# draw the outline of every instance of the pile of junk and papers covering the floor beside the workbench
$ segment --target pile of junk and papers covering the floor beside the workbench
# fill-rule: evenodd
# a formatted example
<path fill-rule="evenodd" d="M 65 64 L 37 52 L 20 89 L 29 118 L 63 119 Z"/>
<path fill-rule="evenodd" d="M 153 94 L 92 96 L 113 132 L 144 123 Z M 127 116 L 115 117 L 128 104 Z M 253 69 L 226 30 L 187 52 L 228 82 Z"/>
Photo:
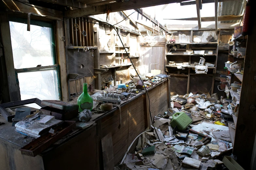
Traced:
<path fill-rule="evenodd" d="M 197 93 L 171 96 L 171 108 L 134 139 L 115 170 L 243 169 L 229 131 L 239 103 Z"/>

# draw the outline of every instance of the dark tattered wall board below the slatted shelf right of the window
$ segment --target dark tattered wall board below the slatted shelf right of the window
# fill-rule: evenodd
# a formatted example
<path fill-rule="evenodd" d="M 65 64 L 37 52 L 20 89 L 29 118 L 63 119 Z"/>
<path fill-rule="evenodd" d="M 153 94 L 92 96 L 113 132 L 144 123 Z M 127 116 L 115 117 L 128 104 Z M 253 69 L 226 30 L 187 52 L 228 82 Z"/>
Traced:
<path fill-rule="evenodd" d="M 84 52 L 82 49 L 68 49 L 68 68 L 69 73 L 78 74 L 77 78 L 84 76 L 94 76 L 94 57 L 92 50 Z M 82 67 L 82 68 L 81 68 Z"/>

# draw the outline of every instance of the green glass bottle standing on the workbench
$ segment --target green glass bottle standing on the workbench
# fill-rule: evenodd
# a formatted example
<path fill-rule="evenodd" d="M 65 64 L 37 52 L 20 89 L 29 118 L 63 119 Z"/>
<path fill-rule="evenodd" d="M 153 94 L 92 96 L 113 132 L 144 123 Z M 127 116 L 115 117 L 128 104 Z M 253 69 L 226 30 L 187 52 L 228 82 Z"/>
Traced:
<path fill-rule="evenodd" d="M 79 106 L 79 112 L 82 112 L 84 109 L 91 111 L 93 109 L 93 98 L 87 92 L 87 83 L 84 83 L 83 92 L 77 99 L 77 105 Z"/>

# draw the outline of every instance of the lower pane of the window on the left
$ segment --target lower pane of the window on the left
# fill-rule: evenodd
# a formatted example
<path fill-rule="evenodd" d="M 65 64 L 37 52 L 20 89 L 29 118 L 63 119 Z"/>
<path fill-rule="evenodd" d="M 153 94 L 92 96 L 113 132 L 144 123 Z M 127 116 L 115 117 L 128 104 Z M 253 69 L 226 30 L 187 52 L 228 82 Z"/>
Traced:
<path fill-rule="evenodd" d="M 59 100 L 56 68 L 18 73 L 21 100 Z"/>

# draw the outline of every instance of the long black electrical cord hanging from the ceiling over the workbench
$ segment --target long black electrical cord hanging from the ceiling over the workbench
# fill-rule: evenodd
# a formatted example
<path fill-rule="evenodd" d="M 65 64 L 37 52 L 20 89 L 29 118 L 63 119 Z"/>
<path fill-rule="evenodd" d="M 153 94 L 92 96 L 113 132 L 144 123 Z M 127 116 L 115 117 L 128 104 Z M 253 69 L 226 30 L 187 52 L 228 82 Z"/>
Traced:
<path fill-rule="evenodd" d="M 25 5 L 27 5 L 27 6 L 30 6 L 30 7 L 34 7 L 34 6 L 31 6 L 31 5 L 26 4 L 26 3 L 24 3 L 24 2 L 21 2 L 21 1 L 19 1 L 19 0 L 15 0 L 15 1 L 20 2 L 20 3 L 22 3 L 22 4 L 25 4 Z M 44 10 L 44 9 L 42 9 L 42 8 L 39 8 L 39 7 L 34 7 L 34 8 L 38 8 L 38 9 L 41 9 L 41 10 L 43 10 L 43 11 L 49 12 L 49 11 Z M 135 11 L 135 12 L 136 12 L 136 11 Z M 59 14 L 55 14 L 55 13 L 53 13 L 53 12 L 49 12 L 49 13 L 54 14 L 54 15 L 59 15 Z M 133 12 L 133 13 L 134 13 L 134 12 Z M 132 14 L 133 14 L 133 13 L 132 13 Z M 130 15 L 131 15 L 131 14 L 130 14 Z M 130 15 L 128 15 L 128 16 L 130 16 Z M 63 15 L 59 15 L 59 16 L 61 16 L 61 17 L 66 17 L 66 16 L 63 16 Z M 127 16 L 127 17 L 128 17 L 128 16 Z M 126 17 L 126 18 L 127 18 L 127 17 Z M 72 18 L 72 17 L 66 17 L 66 18 Z M 122 45 L 123 45 L 123 47 L 124 47 L 124 49 L 125 49 L 124 43 L 123 43 L 123 41 L 122 41 L 120 35 L 118 34 L 117 30 L 115 29 L 114 25 L 111 25 L 110 23 L 107 23 L 107 22 L 104 22 L 104 21 L 100 21 L 100 20 L 97 20 L 97 19 L 94 19 L 94 18 L 91 18 L 91 17 L 87 17 L 87 16 L 86 16 L 85 18 L 89 18 L 89 19 L 92 19 L 92 20 L 95 20 L 95 21 L 98 21 L 98 22 L 101 22 L 101 23 L 104 23 L 104 24 L 107 24 L 107 25 L 112 26 L 113 29 L 115 30 L 115 32 L 117 33 L 117 35 L 118 35 L 118 37 L 119 37 L 119 39 L 120 39 L 120 41 L 121 41 L 121 43 L 122 43 Z M 126 18 L 125 18 L 125 19 L 126 19 Z M 77 18 L 72 18 L 72 19 L 80 20 L 80 19 L 77 19 Z M 125 20 L 125 19 L 124 19 L 124 20 Z M 124 20 L 123 20 L 123 21 L 124 21 Z M 83 20 L 80 20 L 80 21 L 83 21 Z M 86 22 L 90 22 L 90 21 L 86 21 Z M 122 22 L 122 21 L 121 21 L 121 22 Z M 90 22 L 90 23 L 94 23 L 94 22 Z M 120 23 L 120 22 L 118 22 L 118 23 Z M 118 23 L 117 23 L 117 24 L 118 24 Z M 99 24 L 99 23 L 94 23 L 94 24 Z M 115 24 L 115 25 L 116 25 L 116 24 Z M 126 52 L 128 58 L 129 58 L 129 60 L 130 60 L 130 62 L 131 62 L 131 64 L 132 64 L 132 66 L 133 66 L 135 72 L 137 73 L 137 75 L 139 75 L 139 73 L 138 73 L 138 71 L 136 70 L 134 64 L 132 63 L 131 58 L 130 58 L 130 56 L 129 56 L 129 54 L 128 54 L 128 52 L 127 52 L 126 49 L 125 49 L 125 52 Z M 148 106 L 148 107 L 149 107 L 150 119 L 151 119 L 152 125 L 153 125 L 153 127 L 154 127 L 154 130 L 155 130 L 155 132 L 156 132 L 156 134 L 157 134 L 158 140 L 160 141 L 160 138 L 159 138 L 158 133 L 157 133 L 157 131 L 156 131 L 156 128 L 155 128 L 155 126 L 154 126 L 153 119 L 152 119 L 152 115 L 151 115 L 151 111 L 150 111 L 150 99 L 149 99 L 148 92 L 147 92 L 146 86 L 144 85 L 144 81 L 141 79 L 140 76 L 139 76 L 139 78 L 140 78 L 140 80 L 141 80 L 141 82 L 142 82 L 142 84 L 143 84 L 143 86 L 144 86 L 144 88 L 145 88 L 145 91 L 146 91 L 146 94 L 147 94 L 147 97 L 148 97 L 148 102 L 149 102 L 149 106 Z"/>

